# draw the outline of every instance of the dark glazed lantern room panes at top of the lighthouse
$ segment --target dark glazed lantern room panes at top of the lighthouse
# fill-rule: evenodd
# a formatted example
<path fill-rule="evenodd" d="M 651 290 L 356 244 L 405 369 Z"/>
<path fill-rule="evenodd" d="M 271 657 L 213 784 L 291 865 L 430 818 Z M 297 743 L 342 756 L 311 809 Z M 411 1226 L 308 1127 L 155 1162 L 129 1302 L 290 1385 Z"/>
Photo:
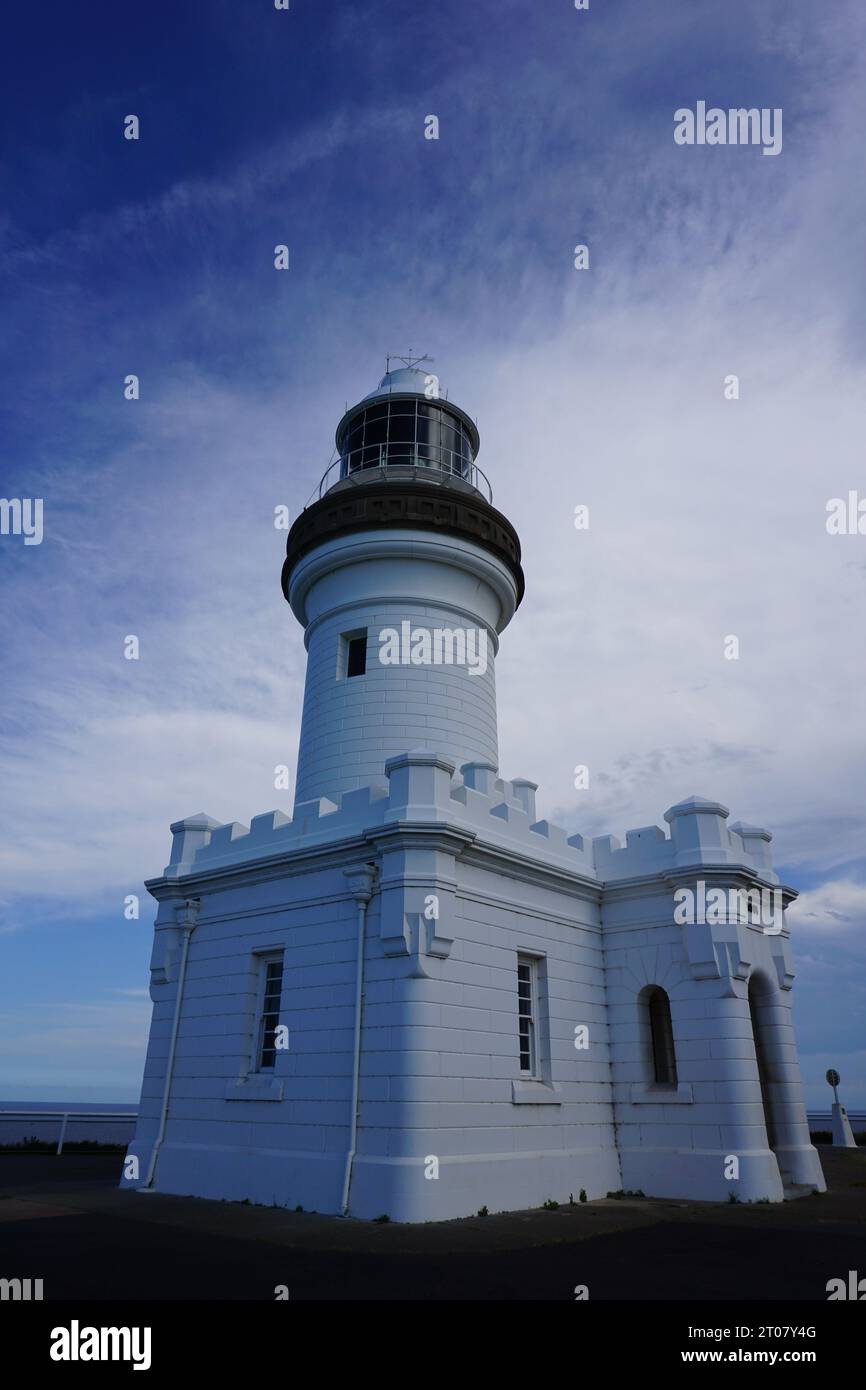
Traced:
<path fill-rule="evenodd" d="M 467 478 L 470 432 L 456 416 L 428 400 L 384 400 L 360 410 L 339 443 L 341 477 L 359 468 L 410 464 Z"/>

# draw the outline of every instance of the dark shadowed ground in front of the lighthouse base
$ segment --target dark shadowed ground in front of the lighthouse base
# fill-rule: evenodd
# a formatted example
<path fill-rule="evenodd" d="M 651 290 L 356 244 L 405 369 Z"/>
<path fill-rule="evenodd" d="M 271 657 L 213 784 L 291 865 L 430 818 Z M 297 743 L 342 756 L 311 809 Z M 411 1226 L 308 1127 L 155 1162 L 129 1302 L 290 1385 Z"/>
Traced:
<path fill-rule="evenodd" d="M 866 1152 L 767 1207 L 607 1200 L 424 1226 L 120 1191 L 121 1159 L 0 1155 L 0 1276 L 54 1300 L 826 1301 L 866 1275 Z"/>

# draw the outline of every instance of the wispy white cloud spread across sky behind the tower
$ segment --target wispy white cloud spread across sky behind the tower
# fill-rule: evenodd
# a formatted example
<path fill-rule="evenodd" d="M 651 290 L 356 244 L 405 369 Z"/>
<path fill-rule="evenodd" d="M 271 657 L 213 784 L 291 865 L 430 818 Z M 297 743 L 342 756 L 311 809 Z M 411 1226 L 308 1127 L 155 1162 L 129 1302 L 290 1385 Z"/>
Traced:
<path fill-rule="evenodd" d="M 626 83 L 635 60 L 619 38 L 607 57 Z M 656 60 L 670 39 L 667 28 Z M 801 51 L 796 25 L 783 40 Z M 840 58 L 835 31 L 833 42 Z M 524 545 L 527 599 L 498 663 L 503 773 L 538 781 L 542 815 L 588 834 L 660 823 L 696 791 L 773 830 L 788 865 L 830 872 L 862 853 L 866 538 L 827 537 L 824 505 L 862 477 L 849 322 L 862 286 L 840 284 L 835 261 L 860 236 L 863 195 L 834 152 L 859 157 L 863 95 L 859 72 L 841 58 L 830 68 L 799 146 L 785 138 L 799 179 L 749 150 L 724 152 L 708 177 L 676 163 L 673 139 L 653 147 L 635 115 L 603 167 L 581 165 L 577 197 L 569 158 L 534 170 L 545 111 L 560 139 L 574 114 L 548 101 L 523 143 L 480 161 L 480 217 L 448 275 L 435 234 L 450 207 L 430 210 L 413 246 L 382 229 L 391 284 L 349 295 L 331 265 L 310 327 L 313 392 L 297 370 L 279 384 L 284 310 L 256 302 L 250 322 L 272 325 L 270 381 L 227 384 L 170 359 L 124 442 L 90 457 L 82 435 L 75 488 L 43 466 L 47 538 L 3 620 L 18 653 L 13 720 L 31 731 L 26 759 L 18 741 L 0 751 L 10 894 L 120 910 L 167 862 L 170 820 L 288 809 L 272 770 L 293 767 L 304 653 L 278 589 L 271 509 L 306 502 L 343 398 L 373 384 L 379 346 L 417 342 L 417 328 L 480 418 L 480 461 Z M 550 78 L 563 96 L 566 79 Z M 484 89 L 473 100 L 482 108 Z M 402 115 L 338 121 L 282 153 L 275 142 L 246 172 L 89 222 L 68 252 L 131 228 L 179 231 L 190 208 L 253 206 L 391 118 Z M 531 178 L 518 200 L 514 168 Z M 569 253 L 585 207 L 603 208 L 606 236 L 584 275 Z M 514 253 L 509 215 L 546 232 L 555 217 L 563 270 L 560 281 L 539 257 L 503 304 L 481 270 Z M 214 272 L 209 293 L 220 302 L 224 288 Z M 168 329 L 185 310 L 161 307 Z M 364 322 L 363 353 L 346 320 Z M 723 399 L 728 371 L 738 402 Z M 588 532 L 573 528 L 577 502 L 591 506 Z M 121 659 L 129 631 L 140 663 Z M 738 662 L 723 659 L 730 632 Z M 575 763 L 589 764 L 587 794 Z"/>

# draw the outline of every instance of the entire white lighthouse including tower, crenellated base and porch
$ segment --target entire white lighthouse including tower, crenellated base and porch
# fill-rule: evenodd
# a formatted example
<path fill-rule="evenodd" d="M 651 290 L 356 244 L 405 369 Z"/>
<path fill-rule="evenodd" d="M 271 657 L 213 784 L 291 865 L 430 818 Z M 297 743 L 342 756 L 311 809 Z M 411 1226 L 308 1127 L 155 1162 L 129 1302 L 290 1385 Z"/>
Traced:
<path fill-rule="evenodd" d="M 147 881 L 136 1191 L 421 1222 L 824 1188 L 770 831 L 689 795 L 588 841 L 503 776 L 524 573 L 480 448 L 411 359 L 336 425 L 282 566 L 293 803 L 177 820 Z"/>

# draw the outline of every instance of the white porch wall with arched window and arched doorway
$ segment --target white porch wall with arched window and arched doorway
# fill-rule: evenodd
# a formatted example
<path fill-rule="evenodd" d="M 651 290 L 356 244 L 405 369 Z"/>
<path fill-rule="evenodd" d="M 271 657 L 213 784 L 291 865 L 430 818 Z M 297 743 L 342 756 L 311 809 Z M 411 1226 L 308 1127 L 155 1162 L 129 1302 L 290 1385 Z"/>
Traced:
<path fill-rule="evenodd" d="M 710 969 L 701 944 L 695 970 L 687 934 L 701 929 L 676 926 L 671 919 L 670 890 L 645 898 L 612 892 L 605 902 L 624 1187 L 655 1197 L 688 1194 L 708 1201 L 726 1201 L 733 1194 L 744 1202 L 781 1201 L 784 1187 L 794 1186 L 823 1191 L 806 1123 L 790 988 L 780 987 L 781 938 L 767 937 L 759 927 L 712 929 L 717 969 Z M 748 999 L 753 974 L 766 990 L 760 1026 L 777 1077 L 769 1093 L 777 1120 L 773 1150 Z M 655 1084 L 645 999 L 652 986 L 663 988 L 670 999 L 676 1091 Z M 731 1165 L 731 1158 L 738 1166 Z M 733 1172 L 738 1176 L 726 1176 Z"/>

